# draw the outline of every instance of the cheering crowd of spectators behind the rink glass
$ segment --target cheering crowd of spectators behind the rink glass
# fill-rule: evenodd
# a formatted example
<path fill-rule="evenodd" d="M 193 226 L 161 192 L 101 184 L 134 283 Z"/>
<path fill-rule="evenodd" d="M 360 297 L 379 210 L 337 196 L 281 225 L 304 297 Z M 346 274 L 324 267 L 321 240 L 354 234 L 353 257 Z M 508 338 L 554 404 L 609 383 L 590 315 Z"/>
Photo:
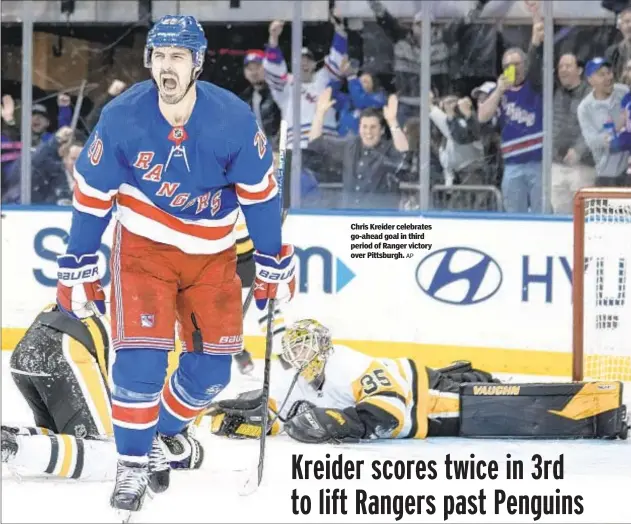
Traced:
<path fill-rule="evenodd" d="M 481 0 L 451 23 L 432 24 L 430 133 L 420 135 L 421 23 L 405 24 L 387 3 L 367 0 L 376 26 L 392 45 L 389 75 L 357 52 L 357 30 L 331 10 L 333 36 L 319 62 L 301 51 L 302 205 L 323 208 L 416 209 L 420 172 L 429 172 L 434 208 L 544 210 L 543 20 L 532 11 L 527 41 L 514 45 L 497 24 L 479 20 Z M 277 146 L 281 119 L 293 134 L 293 75 L 280 45 L 284 22 L 273 21 L 267 42 L 244 52 L 247 102 Z M 574 193 L 586 186 L 631 186 L 631 8 L 617 15 L 621 37 L 598 54 L 557 51 L 553 102 L 551 204 L 571 213 Z M 524 45 L 525 44 L 525 45 Z M 361 46 L 360 46 L 361 47 Z M 96 124 L 102 107 L 126 88 L 120 80 L 84 124 Z M 33 106 L 32 202 L 67 204 L 72 166 L 85 136 L 70 127 L 70 97 L 57 99 L 59 128 L 40 104 Z M 2 97 L 2 202 L 20 202 L 19 118 Z M 428 166 L 419 166 L 422 141 Z M 291 175 L 291 173 L 290 173 Z"/>

